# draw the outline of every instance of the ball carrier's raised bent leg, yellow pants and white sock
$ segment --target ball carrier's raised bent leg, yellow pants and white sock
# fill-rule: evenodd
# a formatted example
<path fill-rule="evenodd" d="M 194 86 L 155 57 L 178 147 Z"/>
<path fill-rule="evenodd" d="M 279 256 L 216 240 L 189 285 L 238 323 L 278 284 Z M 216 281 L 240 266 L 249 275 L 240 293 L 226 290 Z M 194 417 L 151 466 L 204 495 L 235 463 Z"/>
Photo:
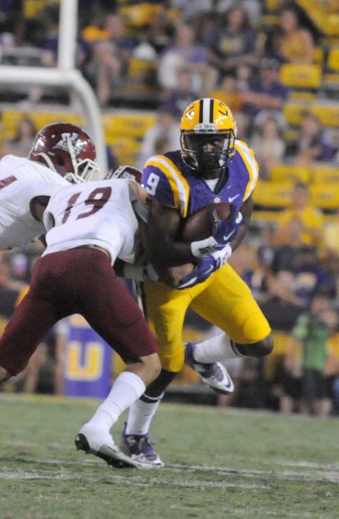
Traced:
<path fill-rule="evenodd" d="M 225 333 L 194 345 L 197 362 L 214 362 L 238 356 L 263 357 L 271 353 L 273 339 L 270 325 L 253 298 L 248 286 L 230 265 L 222 267 L 192 308 Z"/>

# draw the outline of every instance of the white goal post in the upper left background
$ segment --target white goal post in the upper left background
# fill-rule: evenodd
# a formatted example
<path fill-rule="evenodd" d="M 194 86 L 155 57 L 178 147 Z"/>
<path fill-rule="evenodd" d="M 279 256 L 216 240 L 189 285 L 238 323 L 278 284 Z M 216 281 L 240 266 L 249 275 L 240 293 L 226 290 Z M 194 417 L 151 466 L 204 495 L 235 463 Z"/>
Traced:
<path fill-rule="evenodd" d="M 67 90 L 74 90 L 81 101 L 83 115 L 88 121 L 101 176 L 104 176 L 107 171 L 107 155 L 100 106 L 88 81 L 75 69 L 77 9 L 77 0 L 60 2 L 57 67 L 0 65 L 0 84 L 61 86 Z"/>

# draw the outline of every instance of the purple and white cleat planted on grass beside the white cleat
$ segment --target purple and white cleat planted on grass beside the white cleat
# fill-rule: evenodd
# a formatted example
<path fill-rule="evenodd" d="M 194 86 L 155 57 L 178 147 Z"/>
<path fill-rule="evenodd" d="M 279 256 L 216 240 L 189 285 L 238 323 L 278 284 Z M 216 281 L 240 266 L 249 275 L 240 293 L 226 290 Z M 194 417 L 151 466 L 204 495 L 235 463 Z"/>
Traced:
<path fill-rule="evenodd" d="M 148 434 L 126 434 L 123 428 L 119 448 L 142 469 L 158 469 L 164 466 L 159 455 L 153 449 Z"/>

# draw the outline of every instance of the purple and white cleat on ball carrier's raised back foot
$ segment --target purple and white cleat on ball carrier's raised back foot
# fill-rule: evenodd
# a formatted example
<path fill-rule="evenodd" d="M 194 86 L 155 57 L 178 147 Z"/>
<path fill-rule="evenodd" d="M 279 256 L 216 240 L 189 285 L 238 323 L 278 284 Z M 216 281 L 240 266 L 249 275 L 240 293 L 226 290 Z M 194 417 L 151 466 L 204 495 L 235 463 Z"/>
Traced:
<path fill-rule="evenodd" d="M 194 348 L 195 343 L 186 343 L 185 364 L 199 373 L 205 384 L 217 393 L 233 393 L 234 384 L 225 366 L 221 362 L 196 362 L 194 360 Z"/>

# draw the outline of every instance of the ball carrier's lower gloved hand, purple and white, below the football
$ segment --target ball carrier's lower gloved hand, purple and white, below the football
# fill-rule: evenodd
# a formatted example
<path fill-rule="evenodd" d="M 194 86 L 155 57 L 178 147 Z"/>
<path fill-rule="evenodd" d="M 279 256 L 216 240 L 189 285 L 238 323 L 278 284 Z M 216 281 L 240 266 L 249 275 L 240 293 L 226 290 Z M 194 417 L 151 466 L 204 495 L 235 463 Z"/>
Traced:
<path fill-rule="evenodd" d="M 209 256 L 202 257 L 194 270 L 185 278 L 182 278 L 177 286 L 178 290 L 191 288 L 191 286 L 203 283 L 209 276 L 227 263 L 232 254 L 229 244 L 225 245 L 220 251 L 215 251 Z"/>

